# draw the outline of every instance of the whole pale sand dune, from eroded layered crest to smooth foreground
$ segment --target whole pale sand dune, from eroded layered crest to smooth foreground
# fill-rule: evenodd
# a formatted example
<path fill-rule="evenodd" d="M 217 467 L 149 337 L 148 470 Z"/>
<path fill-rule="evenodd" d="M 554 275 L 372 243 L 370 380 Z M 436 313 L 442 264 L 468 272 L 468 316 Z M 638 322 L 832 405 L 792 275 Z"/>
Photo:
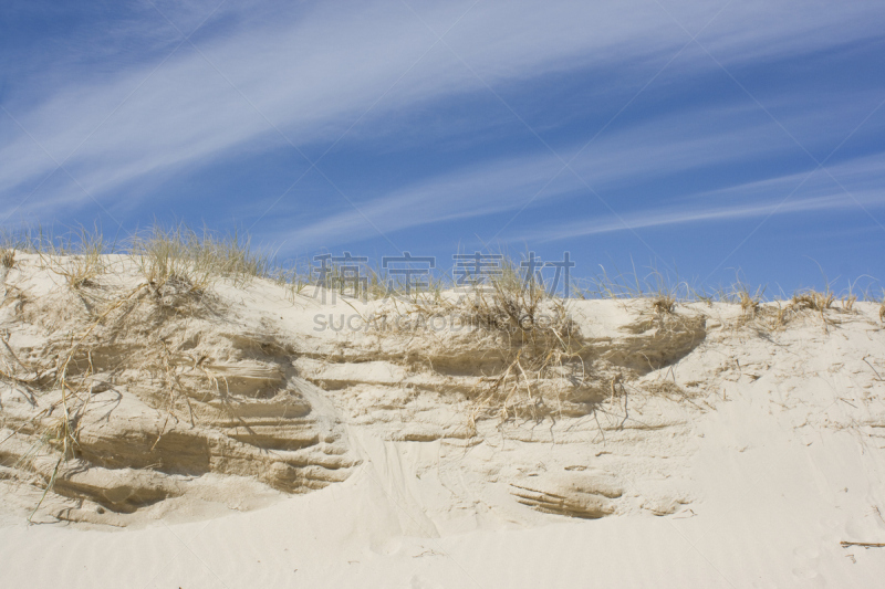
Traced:
<path fill-rule="evenodd" d="M 71 288 L 22 255 L 2 274 L 4 587 L 885 578 L 885 547 L 841 544 L 885 543 L 878 305 L 574 301 L 577 364 L 514 385 L 534 404 L 502 420 L 476 401 L 513 357 L 497 335 L 322 328 L 385 302 L 169 284 L 106 313 L 135 270 Z M 81 446 L 29 525 L 81 340 Z"/>

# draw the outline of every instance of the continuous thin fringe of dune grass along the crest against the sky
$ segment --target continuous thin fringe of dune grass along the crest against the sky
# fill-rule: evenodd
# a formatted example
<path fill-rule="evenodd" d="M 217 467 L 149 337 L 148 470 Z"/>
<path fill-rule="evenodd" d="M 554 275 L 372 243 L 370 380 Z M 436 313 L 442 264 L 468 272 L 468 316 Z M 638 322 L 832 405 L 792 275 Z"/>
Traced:
<path fill-rule="evenodd" d="M 219 281 L 244 286 L 252 280 L 268 280 L 281 287 L 292 303 L 299 296 L 316 296 L 320 292 L 317 287 L 322 287 L 325 294 L 332 293 L 343 298 L 364 302 L 389 298 L 416 305 L 410 309 L 400 309 L 406 314 L 420 312 L 428 315 L 433 314 L 430 309 L 434 313 L 440 309 L 457 311 L 461 317 L 469 318 L 471 325 L 499 332 L 506 328 L 503 330 L 509 329 L 523 338 L 529 334 L 538 335 L 539 332 L 537 326 L 525 330 L 519 324 L 537 323 L 534 318 L 542 301 L 548 305 L 558 302 L 561 307 L 556 312 L 559 318 L 548 322 L 549 325 L 558 325 L 555 337 L 549 344 L 556 347 L 560 339 L 569 339 L 564 318 L 568 316 L 564 308 L 568 301 L 548 295 L 548 285 L 539 283 L 535 276 L 527 280 L 522 260 L 507 252 L 499 252 L 498 272 L 487 276 L 483 288 L 473 293 L 479 296 L 461 296 L 455 309 L 444 296 L 447 292 L 465 292 L 452 277 L 454 269 L 436 269 L 423 275 L 420 280 L 424 287 L 420 288 L 406 284 L 402 276 L 394 275 L 389 270 L 372 267 L 366 263 L 329 263 L 326 271 L 321 274 L 315 260 L 313 264 L 284 265 L 270 250 L 254 248 L 248 235 L 236 231 L 221 234 L 208 229 L 197 232 L 184 223 L 165 227 L 155 224 L 112 243 L 107 243 L 98 230 L 83 228 L 61 236 L 40 227 L 0 232 L 0 264 L 12 267 L 17 251 L 35 253 L 42 267 L 62 276 L 73 291 L 95 285 L 103 274 L 113 271 L 114 264 L 128 261 L 138 269 L 147 286 L 158 296 L 160 291 L 174 292 L 175 296 L 201 296 Z M 358 267 L 358 277 L 354 276 L 355 266 Z M 742 311 L 737 326 L 752 324 L 766 330 L 781 329 L 804 314 L 815 314 L 825 325 L 832 325 L 830 315 L 833 313 L 853 313 L 858 301 L 872 301 L 879 304 L 879 319 L 885 322 L 885 291 L 882 296 L 871 294 L 870 287 L 857 293 L 855 281 L 842 292 L 836 292 L 823 272 L 825 287 L 821 291 L 801 288 L 791 295 L 780 291 L 779 296 L 767 296 L 767 287 L 751 286 L 740 273 L 736 273 L 731 284 L 708 290 L 705 285 L 663 272 L 654 264 L 642 271 L 632 264 L 629 272 L 621 272 L 616 267 L 614 272 L 608 272 L 604 266 L 600 267 L 601 272 L 595 276 L 571 281 L 572 298 L 647 301 L 649 311 L 657 316 L 674 315 L 680 305 L 690 303 L 737 304 Z M 871 285 L 877 284 L 872 277 L 864 278 Z M 304 293 L 308 285 L 313 288 Z M 571 349 L 570 345 L 559 348 Z"/>

